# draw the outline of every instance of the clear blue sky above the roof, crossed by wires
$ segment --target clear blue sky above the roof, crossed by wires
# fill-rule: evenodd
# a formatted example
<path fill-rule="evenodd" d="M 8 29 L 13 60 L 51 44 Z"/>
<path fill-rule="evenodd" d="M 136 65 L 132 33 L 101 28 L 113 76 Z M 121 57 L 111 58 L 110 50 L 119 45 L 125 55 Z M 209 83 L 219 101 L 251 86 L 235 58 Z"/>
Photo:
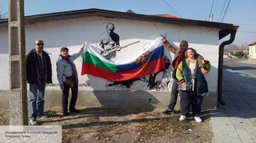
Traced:
<path fill-rule="evenodd" d="M 107 9 L 126 12 L 128 9 L 137 14 L 173 14 L 173 9 L 183 18 L 205 20 L 209 16 L 213 0 L 24 0 L 25 16 L 63 12 L 78 9 Z M 214 0 L 212 13 L 213 21 L 219 22 L 220 13 L 225 0 Z M 226 0 L 225 8 L 229 0 Z M 8 10 L 8 0 L 0 0 L 3 12 Z M 208 18 L 207 18 L 208 19 Z M 256 0 L 231 0 L 223 23 L 239 25 L 236 39 L 233 44 L 249 44 L 256 40 Z M 240 31 L 240 32 L 239 32 Z M 255 32 L 255 33 L 247 33 Z M 227 38 L 225 38 L 227 39 Z"/>

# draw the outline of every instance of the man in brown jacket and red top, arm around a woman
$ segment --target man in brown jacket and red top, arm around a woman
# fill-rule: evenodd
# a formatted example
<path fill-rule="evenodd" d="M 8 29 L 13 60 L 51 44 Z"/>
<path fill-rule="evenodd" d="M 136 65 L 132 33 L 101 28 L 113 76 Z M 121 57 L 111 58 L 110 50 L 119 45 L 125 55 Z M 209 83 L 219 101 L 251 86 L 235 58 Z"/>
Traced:
<path fill-rule="evenodd" d="M 174 58 L 173 58 L 173 85 L 172 85 L 172 89 L 171 89 L 171 101 L 170 104 L 168 105 L 168 108 L 166 109 L 166 111 L 162 112 L 163 114 L 171 114 L 174 113 L 174 107 L 177 103 L 177 97 L 178 97 L 178 83 L 179 81 L 176 78 L 176 69 L 179 65 L 179 63 L 181 61 L 183 61 L 185 59 L 185 51 L 188 48 L 188 43 L 187 41 L 183 40 L 180 42 L 180 48 L 174 48 L 166 39 L 164 36 L 161 36 L 161 39 L 164 42 L 164 46 L 166 48 L 168 48 L 168 50 L 170 50 L 172 53 L 174 53 Z M 198 55 L 198 57 L 196 57 L 199 63 L 199 68 L 201 69 L 202 74 L 208 74 L 208 71 L 206 71 L 204 69 L 204 64 L 202 64 L 202 60 L 204 60 L 204 58 L 201 55 Z"/>

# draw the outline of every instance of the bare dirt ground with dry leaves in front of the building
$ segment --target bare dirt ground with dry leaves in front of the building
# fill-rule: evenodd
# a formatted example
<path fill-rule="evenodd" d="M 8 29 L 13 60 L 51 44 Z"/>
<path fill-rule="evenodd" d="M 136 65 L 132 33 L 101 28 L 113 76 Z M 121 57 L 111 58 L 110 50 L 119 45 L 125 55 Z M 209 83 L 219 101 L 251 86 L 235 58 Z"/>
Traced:
<path fill-rule="evenodd" d="M 45 110 L 51 116 L 38 119 L 40 125 L 62 125 L 63 143 L 211 143 L 213 132 L 208 111 L 201 113 L 204 122 L 179 121 L 180 114 L 162 115 L 159 110 L 130 113 L 122 109 L 79 107 L 81 113 L 61 115 L 60 107 Z M 9 109 L 1 108 L 0 125 L 9 124 Z"/>

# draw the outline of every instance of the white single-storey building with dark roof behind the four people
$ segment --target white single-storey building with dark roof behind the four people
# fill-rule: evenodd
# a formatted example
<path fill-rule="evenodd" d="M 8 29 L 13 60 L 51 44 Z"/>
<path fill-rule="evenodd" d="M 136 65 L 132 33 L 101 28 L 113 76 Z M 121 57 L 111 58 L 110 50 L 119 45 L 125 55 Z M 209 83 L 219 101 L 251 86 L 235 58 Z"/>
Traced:
<path fill-rule="evenodd" d="M 47 85 L 45 106 L 60 106 L 61 91 L 57 81 L 56 62 L 60 48 L 66 46 L 69 53 L 78 50 L 81 42 L 95 45 L 99 35 L 106 31 L 108 23 L 114 23 L 115 30 L 120 37 L 120 46 L 134 41 L 140 41 L 133 46 L 123 48 L 119 59 L 129 58 L 129 55 L 140 53 L 143 47 L 167 33 L 167 40 L 176 48 L 180 41 L 187 40 L 206 60 L 211 62 L 211 71 L 206 75 L 209 95 L 204 97 L 203 108 L 215 108 L 218 93 L 219 40 L 237 26 L 226 23 L 197 21 L 181 18 L 166 18 L 125 12 L 114 12 L 102 9 L 85 9 L 52 14 L 26 16 L 26 53 L 33 49 L 35 39 L 43 39 L 44 50 L 52 61 L 53 84 Z M 8 21 L 0 21 L 0 106 L 8 106 L 9 96 L 9 51 L 8 51 Z M 235 36 L 235 35 L 233 35 Z M 231 41 L 231 40 L 230 40 Z M 230 42 L 231 43 L 231 42 Z M 229 44 L 229 43 L 228 43 Z M 223 44 L 225 46 L 225 44 Z M 170 62 L 173 53 L 165 49 L 165 55 Z M 223 56 L 223 55 L 222 55 Z M 75 60 L 79 75 L 79 91 L 77 105 L 95 107 L 140 108 L 144 111 L 154 108 L 166 108 L 171 97 L 172 68 L 168 74 L 159 74 L 159 86 L 148 88 L 147 81 L 134 81 L 127 86 L 123 83 L 113 84 L 102 78 L 91 75 L 81 76 L 82 58 Z M 166 76 L 166 77 L 162 77 Z M 161 83 L 161 79 L 169 78 Z M 179 108 L 177 105 L 176 108 Z"/>

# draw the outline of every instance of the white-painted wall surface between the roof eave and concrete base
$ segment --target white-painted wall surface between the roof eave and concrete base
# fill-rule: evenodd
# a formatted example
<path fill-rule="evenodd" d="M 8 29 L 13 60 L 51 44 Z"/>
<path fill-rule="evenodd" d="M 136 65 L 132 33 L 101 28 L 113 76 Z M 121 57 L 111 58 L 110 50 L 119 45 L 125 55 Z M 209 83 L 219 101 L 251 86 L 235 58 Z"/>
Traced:
<path fill-rule="evenodd" d="M 47 85 L 46 90 L 60 90 L 57 81 L 56 62 L 59 58 L 60 48 L 66 46 L 69 53 L 79 49 L 82 42 L 88 42 L 96 46 L 102 32 L 106 32 L 108 23 L 114 23 L 114 32 L 119 35 L 120 46 L 135 41 L 139 43 L 130 45 L 121 51 L 116 51 L 115 60 L 129 59 L 130 55 L 140 56 L 145 47 L 152 43 L 159 35 L 167 35 L 167 40 L 178 48 L 180 41 L 187 40 L 189 46 L 195 48 L 199 54 L 211 62 L 212 68 L 206 80 L 209 90 L 216 92 L 218 69 L 218 29 L 204 27 L 188 27 L 156 23 L 147 21 L 135 21 L 119 18 L 85 17 L 58 21 L 47 21 L 26 25 L 26 53 L 33 49 L 35 39 L 43 39 L 44 50 L 49 53 L 52 61 L 53 84 Z M 165 48 L 165 63 L 168 65 L 173 60 L 173 54 Z M 9 63 L 8 63 L 8 28 L 0 28 L 0 90 L 9 89 Z M 78 70 L 79 90 L 143 90 L 143 91 L 170 91 L 172 85 L 171 66 L 158 74 L 141 77 L 128 83 L 114 83 L 91 75 L 81 76 L 82 58 L 75 60 Z M 159 85 L 159 86 L 158 86 Z"/>

